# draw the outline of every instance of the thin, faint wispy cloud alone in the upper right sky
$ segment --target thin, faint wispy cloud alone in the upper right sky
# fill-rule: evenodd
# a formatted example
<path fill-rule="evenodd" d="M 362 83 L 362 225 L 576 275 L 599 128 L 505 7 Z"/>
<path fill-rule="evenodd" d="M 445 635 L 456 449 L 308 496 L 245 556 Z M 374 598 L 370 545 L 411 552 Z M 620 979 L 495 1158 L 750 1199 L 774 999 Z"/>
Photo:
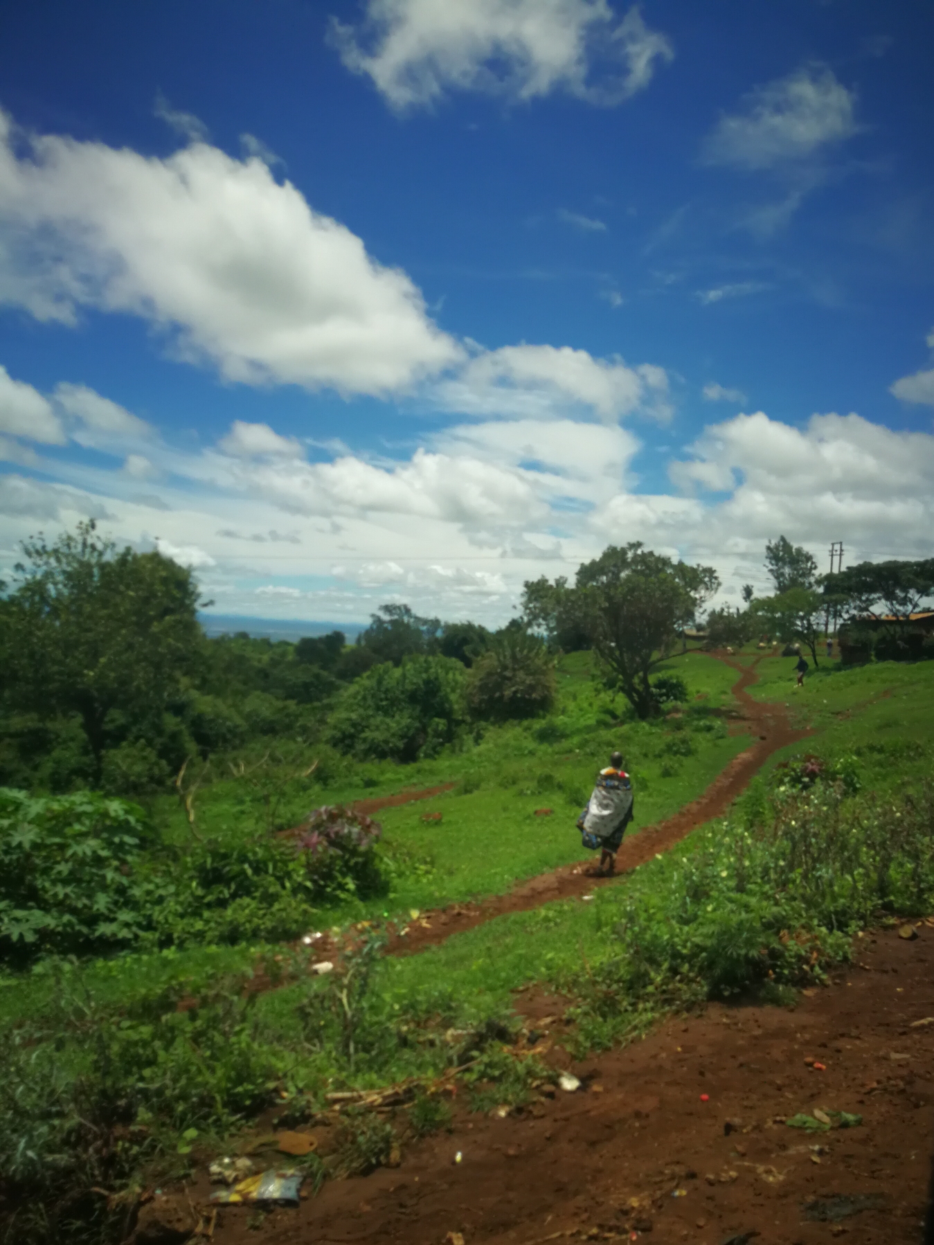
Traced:
<path fill-rule="evenodd" d="M 705 139 L 709 164 L 761 169 L 813 156 L 856 132 L 856 97 L 824 65 L 804 65 L 757 87 Z"/>

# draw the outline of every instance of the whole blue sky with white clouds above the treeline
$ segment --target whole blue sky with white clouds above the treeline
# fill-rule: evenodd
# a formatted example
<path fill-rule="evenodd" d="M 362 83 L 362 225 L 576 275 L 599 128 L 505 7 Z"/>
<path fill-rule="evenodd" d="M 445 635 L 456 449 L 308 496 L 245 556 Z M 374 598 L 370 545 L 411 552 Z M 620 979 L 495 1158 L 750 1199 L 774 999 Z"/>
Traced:
<path fill-rule="evenodd" d="M 0 574 L 499 622 L 609 543 L 929 555 L 923 2 L 0 7 Z"/>

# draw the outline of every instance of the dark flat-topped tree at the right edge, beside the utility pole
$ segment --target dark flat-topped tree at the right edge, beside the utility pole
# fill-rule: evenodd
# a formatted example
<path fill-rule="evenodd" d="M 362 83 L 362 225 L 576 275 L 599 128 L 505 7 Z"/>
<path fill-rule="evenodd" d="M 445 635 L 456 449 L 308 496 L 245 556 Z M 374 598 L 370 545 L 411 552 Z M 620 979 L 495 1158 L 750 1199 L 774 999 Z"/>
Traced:
<path fill-rule="evenodd" d="M 861 561 L 826 575 L 823 585 L 847 603 L 851 619 L 875 621 L 894 645 L 907 647 L 910 615 L 934 594 L 934 558 Z"/>

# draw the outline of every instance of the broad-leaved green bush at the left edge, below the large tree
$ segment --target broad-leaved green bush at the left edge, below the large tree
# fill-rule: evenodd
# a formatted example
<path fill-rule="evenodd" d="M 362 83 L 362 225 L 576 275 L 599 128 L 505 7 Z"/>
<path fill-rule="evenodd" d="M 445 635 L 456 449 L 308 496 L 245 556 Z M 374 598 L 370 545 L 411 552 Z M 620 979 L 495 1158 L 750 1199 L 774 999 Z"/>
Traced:
<path fill-rule="evenodd" d="M 87 954 L 136 941 L 142 809 L 90 792 L 0 789 L 0 957 Z"/>

